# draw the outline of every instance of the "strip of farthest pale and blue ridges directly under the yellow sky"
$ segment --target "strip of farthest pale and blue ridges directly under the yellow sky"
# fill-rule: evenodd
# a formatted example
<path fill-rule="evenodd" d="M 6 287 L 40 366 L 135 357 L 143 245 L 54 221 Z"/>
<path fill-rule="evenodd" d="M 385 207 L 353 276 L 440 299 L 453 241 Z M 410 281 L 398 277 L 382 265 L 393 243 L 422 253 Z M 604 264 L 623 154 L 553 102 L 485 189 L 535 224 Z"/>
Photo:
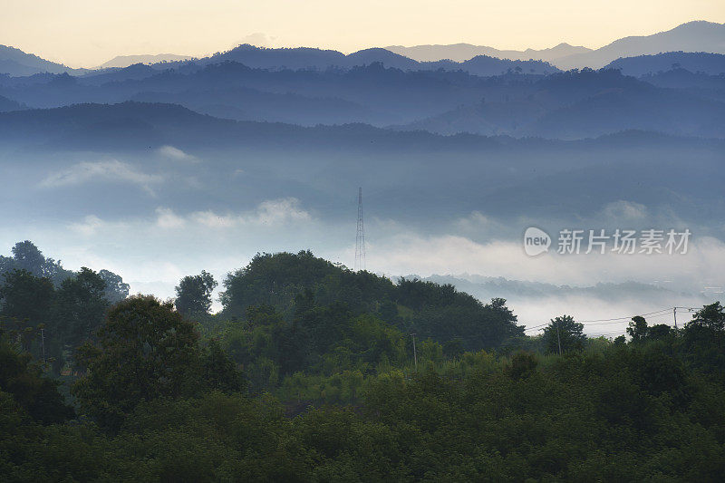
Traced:
<path fill-rule="evenodd" d="M 520 69 L 532 73 L 550 73 L 583 67 L 598 69 L 623 57 L 678 51 L 725 53 L 725 24 L 690 22 L 658 34 L 624 37 L 594 50 L 568 43 L 559 43 L 547 49 L 524 51 L 456 43 L 412 47 L 391 45 L 384 49 L 371 48 L 344 54 L 315 48 L 268 49 L 243 44 L 227 52 L 199 59 L 170 53 L 122 55 L 103 63 L 96 71 L 111 71 L 135 63 L 150 64 L 157 70 L 165 70 L 179 69 L 187 64 L 204 66 L 233 61 L 244 63 L 249 67 L 293 70 L 350 69 L 370 63 L 383 63 L 387 67 L 401 70 L 460 69 L 474 75 L 488 76 L 506 72 L 508 69 Z M 0 45 L 0 73 L 25 76 L 43 72 L 68 72 L 79 75 L 91 71 L 71 69 L 63 64 L 45 61 L 34 54 Z"/>

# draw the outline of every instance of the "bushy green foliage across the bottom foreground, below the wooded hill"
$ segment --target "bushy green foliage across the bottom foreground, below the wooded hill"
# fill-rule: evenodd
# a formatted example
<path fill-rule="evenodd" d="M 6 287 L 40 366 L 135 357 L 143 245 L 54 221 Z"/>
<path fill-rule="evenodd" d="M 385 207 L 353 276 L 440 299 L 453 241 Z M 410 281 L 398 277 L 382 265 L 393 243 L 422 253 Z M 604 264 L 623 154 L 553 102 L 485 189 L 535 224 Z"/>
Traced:
<path fill-rule="evenodd" d="M 379 374 L 352 407 L 295 417 L 268 396 L 165 397 L 137 404 L 112 434 L 43 427 L 13 408 L 0 416 L 13 449 L 0 468 L 11 480 L 717 481 L 723 385 L 670 350 L 466 353 Z"/>

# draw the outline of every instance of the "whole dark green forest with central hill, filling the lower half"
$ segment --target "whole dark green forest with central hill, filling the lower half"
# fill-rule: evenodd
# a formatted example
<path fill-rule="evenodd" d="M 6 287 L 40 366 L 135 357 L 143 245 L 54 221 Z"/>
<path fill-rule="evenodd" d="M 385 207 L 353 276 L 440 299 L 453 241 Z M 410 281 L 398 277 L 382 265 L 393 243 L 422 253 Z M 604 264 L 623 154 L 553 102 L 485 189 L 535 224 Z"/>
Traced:
<path fill-rule="evenodd" d="M 92 275 L 82 271 L 60 298 L 89 317 L 102 291 Z M 48 292 L 43 278 L 14 276 Z M 225 313 L 198 322 L 151 296 L 112 305 L 73 352 L 77 376 L 68 382 L 77 414 L 52 372 L 43 374 L 27 353 L 28 331 L 16 318 L 23 314 L 15 314 L 0 333 L 3 479 L 718 481 L 725 474 L 719 303 L 680 330 L 635 317 L 631 340 L 613 343 L 587 339 L 568 316 L 527 337 L 500 299 L 472 304 L 449 286 L 396 285 L 307 252 L 257 256 L 226 288 Z M 51 313 L 59 300 L 52 298 Z M 462 314 L 457 330 L 480 333 L 475 350 L 431 322 L 458 324 L 454 314 Z M 497 331 L 516 335 L 496 345 Z"/>

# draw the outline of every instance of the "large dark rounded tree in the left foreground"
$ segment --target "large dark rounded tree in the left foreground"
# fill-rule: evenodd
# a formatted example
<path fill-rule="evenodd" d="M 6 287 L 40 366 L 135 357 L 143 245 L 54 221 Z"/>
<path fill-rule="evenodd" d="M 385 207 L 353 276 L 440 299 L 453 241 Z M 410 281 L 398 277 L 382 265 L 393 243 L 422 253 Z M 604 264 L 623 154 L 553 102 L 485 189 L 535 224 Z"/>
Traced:
<path fill-rule="evenodd" d="M 153 297 L 114 305 L 97 338 L 97 344 L 77 350 L 75 362 L 86 375 L 73 394 L 103 427 L 120 427 L 141 401 L 243 388 L 241 374 L 220 358 L 218 345 L 204 353 L 194 324 Z"/>

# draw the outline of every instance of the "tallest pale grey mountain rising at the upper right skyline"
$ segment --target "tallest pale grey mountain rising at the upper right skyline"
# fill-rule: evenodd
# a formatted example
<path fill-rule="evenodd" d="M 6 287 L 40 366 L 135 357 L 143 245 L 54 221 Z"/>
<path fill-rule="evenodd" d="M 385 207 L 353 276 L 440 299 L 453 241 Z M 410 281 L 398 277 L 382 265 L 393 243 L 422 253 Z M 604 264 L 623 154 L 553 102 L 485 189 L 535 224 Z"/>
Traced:
<path fill-rule="evenodd" d="M 556 60 L 560 69 L 598 69 L 621 57 L 665 52 L 725 53 L 725 24 L 697 21 L 659 34 L 624 37 L 600 49 L 574 53 Z"/>

